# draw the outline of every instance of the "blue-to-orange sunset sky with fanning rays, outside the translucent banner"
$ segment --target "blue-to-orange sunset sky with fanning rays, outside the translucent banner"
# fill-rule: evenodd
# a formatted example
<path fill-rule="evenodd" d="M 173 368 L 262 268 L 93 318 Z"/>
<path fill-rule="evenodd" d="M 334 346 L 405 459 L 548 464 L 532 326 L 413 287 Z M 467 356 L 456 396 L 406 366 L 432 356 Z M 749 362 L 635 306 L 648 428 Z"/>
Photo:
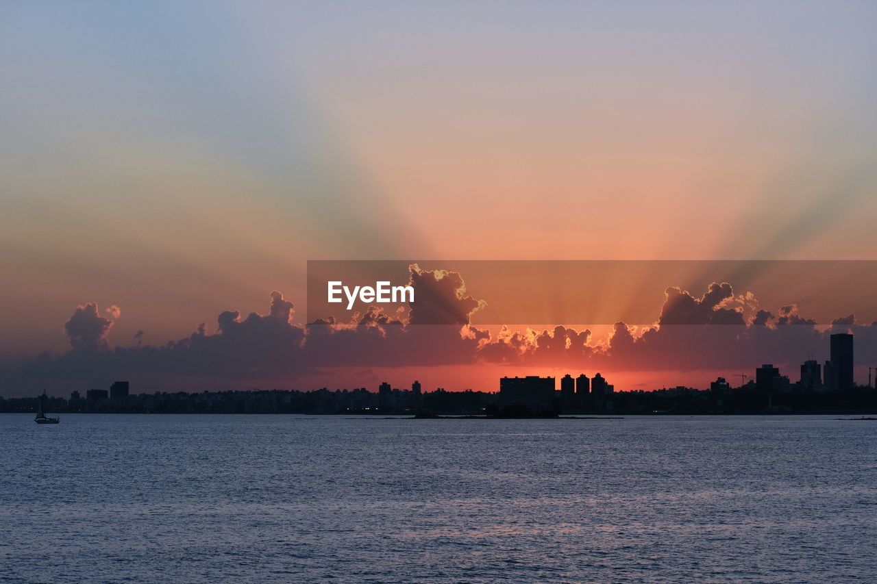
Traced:
<path fill-rule="evenodd" d="M 877 259 L 872 2 L 3 11 L 7 373 L 88 303 L 106 350 L 302 326 L 307 260 Z"/>

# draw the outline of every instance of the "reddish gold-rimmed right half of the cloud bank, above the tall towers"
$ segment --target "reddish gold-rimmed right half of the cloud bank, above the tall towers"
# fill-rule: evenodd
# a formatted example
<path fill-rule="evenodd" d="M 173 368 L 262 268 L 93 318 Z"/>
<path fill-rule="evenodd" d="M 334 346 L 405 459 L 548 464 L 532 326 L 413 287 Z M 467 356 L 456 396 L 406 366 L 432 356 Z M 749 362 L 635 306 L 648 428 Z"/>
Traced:
<path fill-rule="evenodd" d="M 479 346 L 478 354 L 490 363 L 686 371 L 750 369 L 771 361 L 795 365 L 810 353 L 827 351 L 832 330 L 818 330 L 795 304 L 781 307 L 779 317 L 757 307 L 751 293 L 734 295 L 727 282 L 709 284 L 700 297 L 671 287 L 659 320 L 652 326 L 638 328 L 619 322 L 603 342 L 591 338 L 588 330 L 559 326 L 518 332 L 504 327 L 496 338 Z M 748 323 L 744 310 L 754 311 Z M 877 327 L 853 328 L 857 347 L 877 348 Z M 588 340 L 582 343 L 582 338 Z"/>

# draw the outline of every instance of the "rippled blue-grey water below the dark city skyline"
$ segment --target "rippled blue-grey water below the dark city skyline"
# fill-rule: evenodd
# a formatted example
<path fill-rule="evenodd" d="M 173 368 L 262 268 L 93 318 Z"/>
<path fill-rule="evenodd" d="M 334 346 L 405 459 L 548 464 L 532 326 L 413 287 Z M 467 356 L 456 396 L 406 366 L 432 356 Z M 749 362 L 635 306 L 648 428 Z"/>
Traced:
<path fill-rule="evenodd" d="M 0 580 L 877 581 L 877 422 L 0 415 Z"/>

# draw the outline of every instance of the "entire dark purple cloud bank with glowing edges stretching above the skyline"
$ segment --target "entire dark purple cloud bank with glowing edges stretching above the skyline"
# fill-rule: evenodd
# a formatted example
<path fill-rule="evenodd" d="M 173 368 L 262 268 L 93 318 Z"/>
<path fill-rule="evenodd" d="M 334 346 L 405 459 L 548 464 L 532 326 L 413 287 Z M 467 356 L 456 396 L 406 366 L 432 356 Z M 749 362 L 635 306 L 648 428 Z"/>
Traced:
<path fill-rule="evenodd" d="M 246 380 L 293 381 L 296 376 L 335 367 L 410 367 L 476 363 L 574 370 L 685 371 L 751 370 L 762 362 L 798 364 L 810 354 L 827 358 L 828 335 L 852 331 L 857 353 L 873 354 L 877 323 L 860 325 L 852 315 L 822 330 L 794 304 L 772 312 L 751 293 L 735 294 L 727 282 L 709 284 L 702 296 L 667 288 L 652 326 L 617 323 L 609 338 L 556 326 L 542 331 L 503 329 L 491 335 L 469 324 L 484 301 L 469 296 L 460 274 L 410 270 L 417 303 L 408 313 L 386 314 L 372 307 L 348 322 L 332 317 L 306 326 L 292 324 L 295 306 L 271 293 L 267 314 L 243 317 L 229 310 L 217 326 L 201 324 L 189 337 L 166 345 L 110 348 L 108 338 L 120 310 L 101 313 L 96 303 L 79 306 L 64 325 L 70 350 L 45 353 L 25 364 L 6 385 L 32 387 L 49 379 L 108 376 L 174 376 L 224 379 L 233 387 Z M 418 324 L 445 322 L 447 324 Z M 8 388 L 7 388 L 8 389 Z"/>

